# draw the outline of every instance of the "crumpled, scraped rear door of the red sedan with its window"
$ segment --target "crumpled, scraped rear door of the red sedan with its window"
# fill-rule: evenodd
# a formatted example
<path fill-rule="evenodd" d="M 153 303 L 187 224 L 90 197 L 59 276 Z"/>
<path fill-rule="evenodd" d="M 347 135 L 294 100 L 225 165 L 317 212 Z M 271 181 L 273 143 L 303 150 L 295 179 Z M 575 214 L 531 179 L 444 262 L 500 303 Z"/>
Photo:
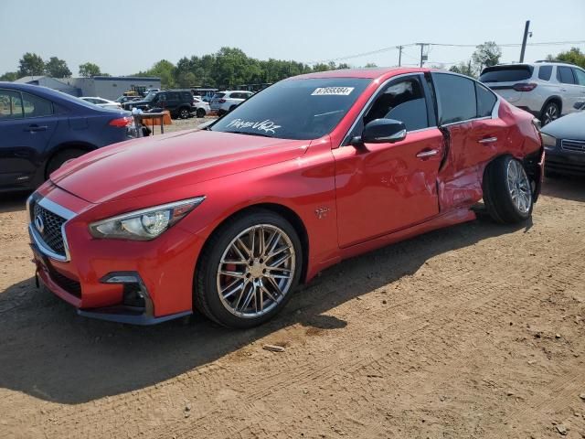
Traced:
<path fill-rule="evenodd" d="M 447 154 L 438 178 L 441 211 L 467 207 L 482 196 L 484 165 L 505 145 L 508 127 L 497 114 L 497 97 L 460 75 L 432 73 L 439 125 Z"/>

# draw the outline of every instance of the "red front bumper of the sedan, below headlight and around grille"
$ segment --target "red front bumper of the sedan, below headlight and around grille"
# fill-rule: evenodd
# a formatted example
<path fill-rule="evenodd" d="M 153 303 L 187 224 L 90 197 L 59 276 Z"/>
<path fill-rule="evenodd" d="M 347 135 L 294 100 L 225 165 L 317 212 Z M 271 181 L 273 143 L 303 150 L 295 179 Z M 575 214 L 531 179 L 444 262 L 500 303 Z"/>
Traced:
<path fill-rule="evenodd" d="M 95 239 L 88 223 L 96 219 L 91 212 L 98 206 L 47 187 L 31 196 L 34 202 L 49 198 L 73 212 L 62 226 L 66 257 L 48 252 L 33 221 L 29 225 L 37 276 L 50 291 L 81 316 L 114 322 L 152 325 L 192 314 L 193 273 L 202 240 L 178 227 L 153 241 Z"/>

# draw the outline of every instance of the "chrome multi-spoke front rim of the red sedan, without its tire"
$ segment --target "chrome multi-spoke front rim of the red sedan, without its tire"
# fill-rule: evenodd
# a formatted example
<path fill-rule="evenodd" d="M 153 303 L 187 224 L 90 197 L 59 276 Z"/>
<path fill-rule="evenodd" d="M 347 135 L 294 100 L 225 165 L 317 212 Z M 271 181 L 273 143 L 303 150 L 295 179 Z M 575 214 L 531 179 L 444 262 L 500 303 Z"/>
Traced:
<path fill-rule="evenodd" d="M 269 313 L 289 293 L 295 273 L 293 242 L 276 226 L 243 230 L 228 245 L 218 265 L 222 304 L 235 316 Z"/>

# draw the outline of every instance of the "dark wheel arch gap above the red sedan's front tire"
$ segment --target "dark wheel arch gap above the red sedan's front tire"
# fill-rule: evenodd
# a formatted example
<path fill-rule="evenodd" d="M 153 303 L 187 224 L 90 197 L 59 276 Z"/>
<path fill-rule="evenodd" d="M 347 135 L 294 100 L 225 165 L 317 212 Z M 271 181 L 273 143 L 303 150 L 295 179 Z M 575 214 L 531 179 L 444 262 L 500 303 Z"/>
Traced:
<path fill-rule="evenodd" d="M 204 252 L 211 237 L 219 229 L 221 229 L 225 224 L 233 221 L 234 219 L 236 219 L 240 216 L 245 216 L 250 211 L 257 210 L 257 209 L 269 210 L 272 213 L 275 213 L 275 214 L 281 216 L 282 218 L 286 219 L 287 221 L 289 221 L 291 223 L 294 230 L 299 235 L 299 240 L 301 241 L 301 245 L 303 246 L 303 267 L 302 267 L 300 279 L 301 279 L 301 283 L 304 284 L 305 280 L 306 280 L 308 263 L 309 263 L 309 234 L 308 234 L 307 229 L 304 225 L 303 219 L 301 219 L 301 217 L 293 209 L 291 209 L 290 207 L 285 206 L 283 204 L 274 203 L 274 202 L 262 202 L 262 203 L 257 203 L 257 204 L 251 204 L 249 206 L 246 206 L 245 208 L 242 208 L 242 209 L 236 210 L 235 212 L 232 212 L 228 217 L 221 220 L 216 225 L 216 227 L 213 230 L 211 230 L 211 232 L 207 235 L 207 238 L 206 238 L 203 246 L 201 247 L 201 252 L 199 252 L 199 255 Z M 200 263 L 200 258 L 197 258 L 196 269 L 194 270 L 194 273 L 193 273 L 193 282 L 194 283 L 196 282 L 197 270 L 199 267 L 199 263 Z"/>

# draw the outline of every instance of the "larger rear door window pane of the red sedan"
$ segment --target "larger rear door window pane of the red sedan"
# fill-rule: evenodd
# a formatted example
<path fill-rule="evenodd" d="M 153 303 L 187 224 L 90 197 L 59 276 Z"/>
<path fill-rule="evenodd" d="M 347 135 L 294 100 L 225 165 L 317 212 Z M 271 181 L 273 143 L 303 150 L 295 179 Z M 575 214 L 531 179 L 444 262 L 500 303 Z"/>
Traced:
<path fill-rule="evenodd" d="M 439 124 L 473 119 L 477 114 L 473 80 L 448 73 L 432 76 L 437 92 Z"/>

